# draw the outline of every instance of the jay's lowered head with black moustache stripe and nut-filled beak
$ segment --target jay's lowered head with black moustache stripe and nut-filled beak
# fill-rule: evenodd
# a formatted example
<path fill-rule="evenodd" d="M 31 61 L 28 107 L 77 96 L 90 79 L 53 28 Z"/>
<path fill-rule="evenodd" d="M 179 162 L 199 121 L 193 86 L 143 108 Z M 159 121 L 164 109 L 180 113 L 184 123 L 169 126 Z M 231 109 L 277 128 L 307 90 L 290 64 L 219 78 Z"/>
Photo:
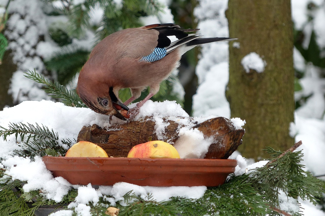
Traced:
<path fill-rule="evenodd" d="M 98 96 L 96 91 L 85 91 L 83 88 L 77 87 L 77 93 L 81 100 L 96 113 L 104 115 L 115 115 L 119 119 L 127 120 L 127 111 L 129 108 L 125 106 L 113 92 L 113 88 L 109 88 L 106 96 Z"/>

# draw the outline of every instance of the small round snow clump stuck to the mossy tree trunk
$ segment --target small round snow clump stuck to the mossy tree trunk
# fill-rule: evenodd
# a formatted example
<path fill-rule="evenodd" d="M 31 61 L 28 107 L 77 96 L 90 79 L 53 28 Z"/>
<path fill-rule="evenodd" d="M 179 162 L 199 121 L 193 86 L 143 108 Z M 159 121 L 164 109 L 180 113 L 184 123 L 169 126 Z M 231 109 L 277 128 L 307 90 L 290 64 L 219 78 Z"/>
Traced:
<path fill-rule="evenodd" d="M 251 69 L 255 70 L 257 73 L 262 73 L 266 66 L 266 62 L 255 52 L 245 55 L 240 63 L 244 67 L 246 73 L 249 73 Z"/>

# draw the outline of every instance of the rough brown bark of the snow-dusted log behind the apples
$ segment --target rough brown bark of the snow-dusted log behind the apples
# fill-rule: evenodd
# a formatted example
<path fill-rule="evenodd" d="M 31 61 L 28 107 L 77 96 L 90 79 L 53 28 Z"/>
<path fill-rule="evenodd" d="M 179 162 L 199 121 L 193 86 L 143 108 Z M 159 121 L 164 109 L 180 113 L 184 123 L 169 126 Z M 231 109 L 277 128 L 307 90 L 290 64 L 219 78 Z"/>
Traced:
<path fill-rule="evenodd" d="M 164 135 L 167 137 L 168 142 L 173 145 L 179 138 L 179 128 L 183 125 L 166 119 L 164 119 L 164 122 L 169 123 L 165 128 Z M 94 124 L 84 126 L 79 132 L 77 141 L 93 142 L 102 147 L 112 157 L 127 157 L 133 146 L 148 142 L 150 139 L 158 140 L 154 127 L 155 122 L 150 117 L 142 121 L 132 121 L 128 124 L 112 125 L 109 128 L 101 128 Z M 241 138 L 245 133 L 244 129 L 236 130 L 233 123 L 224 117 L 209 119 L 200 124 L 196 122 L 193 128 L 200 130 L 204 137 L 214 138 L 214 142 L 210 145 L 204 157 L 209 159 L 227 159 L 242 143 Z"/>

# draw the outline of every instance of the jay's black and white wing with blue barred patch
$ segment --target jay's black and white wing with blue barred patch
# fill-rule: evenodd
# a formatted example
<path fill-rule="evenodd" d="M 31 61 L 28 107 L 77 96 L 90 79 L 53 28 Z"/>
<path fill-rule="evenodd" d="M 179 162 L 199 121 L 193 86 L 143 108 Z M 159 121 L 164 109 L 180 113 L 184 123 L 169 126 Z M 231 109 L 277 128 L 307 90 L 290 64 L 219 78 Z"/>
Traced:
<path fill-rule="evenodd" d="M 175 50 L 177 47 L 186 44 L 198 37 L 200 34 L 188 34 L 187 32 L 197 31 L 199 29 L 182 29 L 180 26 L 173 23 L 152 24 L 140 27 L 147 30 L 157 30 L 158 44 L 153 52 L 149 55 L 143 56 L 140 61 L 153 62 L 162 59 L 168 53 Z"/>

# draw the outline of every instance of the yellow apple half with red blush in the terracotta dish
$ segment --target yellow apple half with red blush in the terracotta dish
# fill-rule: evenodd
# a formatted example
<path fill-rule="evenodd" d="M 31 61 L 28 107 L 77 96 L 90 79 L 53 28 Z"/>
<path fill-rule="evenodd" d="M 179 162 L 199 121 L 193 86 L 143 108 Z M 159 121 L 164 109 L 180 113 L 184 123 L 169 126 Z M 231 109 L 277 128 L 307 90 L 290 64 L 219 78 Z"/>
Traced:
<path fill-rule="evenodd" d="M 174 146 L 163 141 L 150 141 L 134 146 L 128 158 L 180 158 Z"/>

